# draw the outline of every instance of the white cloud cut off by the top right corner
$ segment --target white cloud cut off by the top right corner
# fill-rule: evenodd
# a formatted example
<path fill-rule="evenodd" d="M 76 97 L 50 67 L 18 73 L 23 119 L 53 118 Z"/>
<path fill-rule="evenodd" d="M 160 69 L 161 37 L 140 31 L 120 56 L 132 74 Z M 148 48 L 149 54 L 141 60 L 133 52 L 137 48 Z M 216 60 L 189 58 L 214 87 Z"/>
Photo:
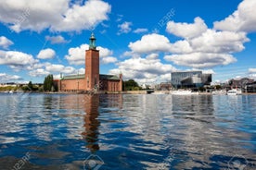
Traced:
<path fill-rule="evenodd" d="M 224 20 L 214 22 L 216 30 L 256 31 L 256 1 L 244 0 L 237 10 Z"/>

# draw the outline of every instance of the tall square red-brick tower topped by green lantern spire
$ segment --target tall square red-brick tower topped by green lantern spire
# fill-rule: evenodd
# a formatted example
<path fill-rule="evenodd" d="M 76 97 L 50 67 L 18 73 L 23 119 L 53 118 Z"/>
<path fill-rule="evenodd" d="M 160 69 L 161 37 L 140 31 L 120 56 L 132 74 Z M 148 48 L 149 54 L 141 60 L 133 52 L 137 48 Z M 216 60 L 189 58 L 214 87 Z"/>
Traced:
<path fill-rule="evenodd" d="M 89 49 L 85 51 L 85 90 L 93 91 L 99 86 L 99 51 L 96 50 L 94 33 L 90 37 Z"/>

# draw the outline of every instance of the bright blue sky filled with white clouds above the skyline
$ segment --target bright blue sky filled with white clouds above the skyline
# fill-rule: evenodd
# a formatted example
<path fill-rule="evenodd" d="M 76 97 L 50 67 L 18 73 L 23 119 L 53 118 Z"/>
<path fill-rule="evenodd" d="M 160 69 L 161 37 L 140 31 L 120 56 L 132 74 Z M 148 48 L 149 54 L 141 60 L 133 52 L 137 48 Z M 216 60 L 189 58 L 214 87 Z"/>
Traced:
<path fill-rule="evenodd" d="M 92 32 L 101 74 L 256 79 L 255 9 L 255 0 L 0 0 L 0 83 L 83 74 Z"/>

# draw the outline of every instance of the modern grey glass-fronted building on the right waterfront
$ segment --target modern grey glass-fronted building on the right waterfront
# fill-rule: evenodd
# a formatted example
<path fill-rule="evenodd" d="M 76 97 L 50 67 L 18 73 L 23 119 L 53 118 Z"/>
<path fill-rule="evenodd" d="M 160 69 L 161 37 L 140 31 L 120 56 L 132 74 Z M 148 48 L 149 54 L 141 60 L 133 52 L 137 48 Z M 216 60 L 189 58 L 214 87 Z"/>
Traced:
<path fill-rule="evenodd" d="M 211 84 L 211 74 L 202 74 L 202 71 L 178 71 L 171 73 L 171 82 L 174 88 L 199 88 Z"/>

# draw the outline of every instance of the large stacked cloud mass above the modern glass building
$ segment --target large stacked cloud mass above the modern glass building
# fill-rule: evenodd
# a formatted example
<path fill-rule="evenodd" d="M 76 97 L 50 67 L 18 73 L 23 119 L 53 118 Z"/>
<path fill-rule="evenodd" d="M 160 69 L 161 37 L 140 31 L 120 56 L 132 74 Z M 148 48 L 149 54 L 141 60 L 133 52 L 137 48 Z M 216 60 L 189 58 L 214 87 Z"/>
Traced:
<path fill-rule="evenodd" d="M 201 18 L 195 23 L 167 24 L 167 31 L 183 40 L 173 42 L 170 52 L 164 57 L 179 66 L 209 68 L 225 66 L 237 62 L 232 55 L 245 49 L 244 43 L 249 42 L 245 32 L 208 29 Z"/>

